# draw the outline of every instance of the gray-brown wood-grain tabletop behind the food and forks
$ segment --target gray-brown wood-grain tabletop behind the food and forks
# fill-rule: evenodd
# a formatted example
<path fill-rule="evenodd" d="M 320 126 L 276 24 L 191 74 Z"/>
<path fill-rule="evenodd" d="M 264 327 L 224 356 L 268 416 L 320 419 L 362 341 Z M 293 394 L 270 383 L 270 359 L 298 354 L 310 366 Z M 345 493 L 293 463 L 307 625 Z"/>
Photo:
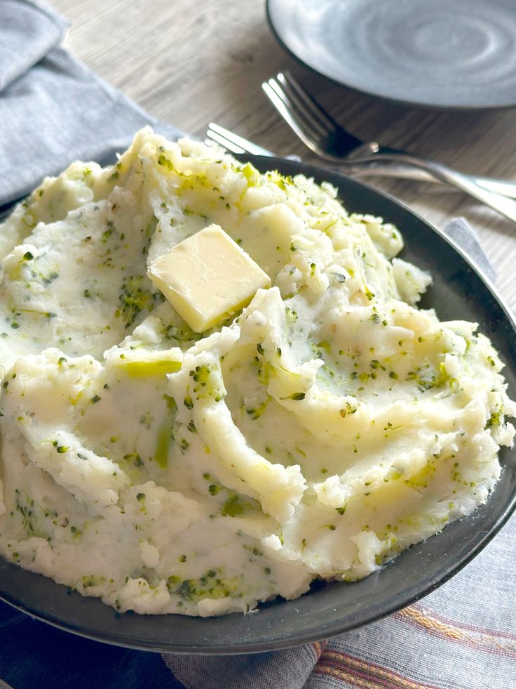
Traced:
<path fill-rule="evenodd" d="M 72 22 L 67 46 L 147 112 L 203 136 L 218 122 L 278 155 L 316 162 L 262 94 L 290 67 L 351 132 L 407 148 L 464 172 L 516 180 L 516 110 L 439 112 L 380 103 L 294 63 L 266 24 L 262 0 L 53 0 Z M 442 227 L 464 216 L 516 309 L 516 224 L 460 192 L 412 181 L 367 178 Z M 367 209 L 365 209 L 367 210 Z"/>

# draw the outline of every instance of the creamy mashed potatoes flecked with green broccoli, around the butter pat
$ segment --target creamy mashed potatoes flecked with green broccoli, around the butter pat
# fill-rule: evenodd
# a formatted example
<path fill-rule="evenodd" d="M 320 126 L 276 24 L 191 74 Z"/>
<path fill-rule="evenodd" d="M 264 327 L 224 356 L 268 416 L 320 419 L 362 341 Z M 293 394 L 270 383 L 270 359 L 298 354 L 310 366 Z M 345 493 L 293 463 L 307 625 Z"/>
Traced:
<path fill-rule="evenodd" d="M 218 615 L 367 576 L 488 497 L 515 405 L 475 325 L 335 190 L 140 132 L 0 237 L 0 551 L 117 610 Z M 365 209 L 367 210 L 367 209 Z M 271 278 L 193 332 L 147 277 L 220 225 Z"/>

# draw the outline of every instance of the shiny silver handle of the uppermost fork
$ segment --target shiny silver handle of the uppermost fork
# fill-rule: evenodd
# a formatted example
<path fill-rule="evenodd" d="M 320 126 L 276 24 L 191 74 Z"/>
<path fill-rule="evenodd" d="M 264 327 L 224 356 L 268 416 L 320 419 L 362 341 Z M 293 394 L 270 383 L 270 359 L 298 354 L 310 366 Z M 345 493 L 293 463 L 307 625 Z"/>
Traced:
<path fill-rule="evenodd" d="M 473 181 L 470 176 L 465 175 L 461 172 L 453 170 L 446 165 L 441 163 L 436 163 L 434 161 L 419 158 L 418 156 L 412 155 L 410 153 L 405 153 L 405 151 L 397 151 L 384 147 L 378 147 L 372 144 L 369 147 L 369 155 L 374 157 L 375 160 L 389 160 L 395 161 L 402 164 L 412 165 L 420 171 L 429 173 L 434 178 L 441 182 L 449 184 L 451 186 L 460 189 L 469 196 L 481 201 L 486 206 L 497 211 L 499 214 L 508 218 L 513 223 L 516 223 L 516 201 L 515 199 L 510 199 L 495 192 L 491 192 L 487 189 L 482 188 L 476 181 Z M 360 147 L 362 151 L 365 147 Z M 376 152 L 377 151 L 377 152 Z M 358 150 L 353 152 L 352 159 L 358 161 L 360 155 L 358 155 Z M 351 160 L 352 160 L 351 159 Z"/>

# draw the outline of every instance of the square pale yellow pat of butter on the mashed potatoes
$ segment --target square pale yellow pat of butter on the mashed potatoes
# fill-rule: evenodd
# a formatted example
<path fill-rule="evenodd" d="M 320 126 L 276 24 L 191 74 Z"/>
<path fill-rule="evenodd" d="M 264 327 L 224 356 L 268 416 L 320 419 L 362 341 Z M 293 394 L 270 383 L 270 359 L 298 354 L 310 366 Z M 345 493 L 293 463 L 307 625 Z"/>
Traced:
<path fill-rule="evenodd" d="M 219 225 L 209 225 L 158 256 L 149 277 L 195 332 L 247 306 L 269 275 Z"/>

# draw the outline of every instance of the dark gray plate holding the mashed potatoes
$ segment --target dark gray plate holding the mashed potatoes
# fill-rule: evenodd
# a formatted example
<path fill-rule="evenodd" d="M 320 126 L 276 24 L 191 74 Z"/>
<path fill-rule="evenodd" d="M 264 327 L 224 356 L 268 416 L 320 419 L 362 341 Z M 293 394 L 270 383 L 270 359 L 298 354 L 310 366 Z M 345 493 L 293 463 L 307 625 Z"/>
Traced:
<path fill-rule="evenodd" d="M 443 320 L 478 322 L 507 363 L 509 393 L 516 397 L 516 325 L 494 290 L 460 249 L 394 199 L 338 173 L 303 163 L 248 157 L 259 169 L 304 173 L 330 181 L 349 211 L 383 216 L 405 237 L 402 256 L 430 270 L 433 286 L 423 306 Z M 0 559 L 0 598 L 62 629 L 99 641 L 145 650 L 243 653 L 315 641 L 354 629 L 405 607 L 445 582 L 496 534 L 516 506 L 516 452 L 503 448 L 502 478 L 487 504 L 412 546 L 392 563 L 353 584 L 317 584 L 296 601 L 274 601 L 252 615 L 183 617 L 118 615 L 95 598 L 83 598 L 41 575 Z M 486 585 L 489 572 L 485 573 Z"/>

